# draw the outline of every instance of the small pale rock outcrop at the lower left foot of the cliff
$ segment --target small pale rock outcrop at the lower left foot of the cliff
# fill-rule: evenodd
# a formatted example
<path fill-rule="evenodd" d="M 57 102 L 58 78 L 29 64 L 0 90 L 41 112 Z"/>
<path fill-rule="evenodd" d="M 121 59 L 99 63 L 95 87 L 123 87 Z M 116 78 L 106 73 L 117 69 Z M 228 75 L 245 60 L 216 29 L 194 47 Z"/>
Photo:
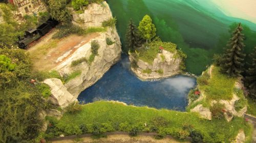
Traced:
<path fill-rule="evenodd" d="M 66 107 L 71 102 L 77 101 L 77 99 L 67 91 L 67 88 L 63 85 L 62 81 L 58 78 L 49 78 L 44 81 L 48 84 L 52 95 L 49 100 L 60 107 Z"/>

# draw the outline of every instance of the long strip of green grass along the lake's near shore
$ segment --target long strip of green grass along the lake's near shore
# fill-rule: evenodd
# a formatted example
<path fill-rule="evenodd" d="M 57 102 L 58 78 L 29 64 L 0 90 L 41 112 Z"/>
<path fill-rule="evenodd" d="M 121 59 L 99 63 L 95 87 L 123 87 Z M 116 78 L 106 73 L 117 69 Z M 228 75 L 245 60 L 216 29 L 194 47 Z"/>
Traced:
<path fill-rule="evenodd" d="M 156 120 L 157 119 L 157 120 Z M 144 126 L 147 124 L 147 127 Z M 152 131 L 155 127 L 159 134 L 179 137 L 184 127 L 198 130 L 203 135 L 204 142 L 231 142 L 240 129 L 244 129 L 246 136 L 250 135 L 251 126 L 243 118 L 235 117 L 231 122 L 226 120 L 208 121 L 199 118 L 194 112 L 177 112 L 166 109 L 124 106 L 120 103 L 99 101 L 82 106 L 78 113 L 65 113 L 59 121 L 55 121 L 58 134 L 80 134 L 79 126 L 86 125 L 88 133 L 92 132 L 92 125 L 107 126 L 109 130 L 129 132 L 133 127 L 140 131 Z M 105 131 L 108 131 L 107 129 Z M 54 133 L 53 133 L 54 134 Z"/>

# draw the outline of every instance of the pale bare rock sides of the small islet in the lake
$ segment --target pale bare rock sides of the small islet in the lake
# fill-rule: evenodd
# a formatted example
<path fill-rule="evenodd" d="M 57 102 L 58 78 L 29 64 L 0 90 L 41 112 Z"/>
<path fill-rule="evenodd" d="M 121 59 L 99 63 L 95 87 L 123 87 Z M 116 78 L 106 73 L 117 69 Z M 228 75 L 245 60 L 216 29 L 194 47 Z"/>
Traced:
<path fill-rule="evenodd" d="M 130 61 L 133 62 L 135 58 L 130 55 Z M 138 67 L 132 68 L 132 71 L 141 79 L 159 79 L 177 75 L 181 72 L 180 64 L 182 59 L 175 58 L 175 53 L 163 50 L 158 53 L 154 59 L 153 64 L 148 64 L 142 60 L 138 60 Z M 146 73 L 150 70 L 150 73 Z"/>

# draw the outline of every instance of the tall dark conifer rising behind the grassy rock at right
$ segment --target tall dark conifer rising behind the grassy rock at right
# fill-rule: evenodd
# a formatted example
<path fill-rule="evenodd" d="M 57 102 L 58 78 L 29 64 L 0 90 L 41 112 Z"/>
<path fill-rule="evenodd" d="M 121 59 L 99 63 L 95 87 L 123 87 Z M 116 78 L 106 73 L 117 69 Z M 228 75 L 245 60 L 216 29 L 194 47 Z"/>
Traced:
<path fill-rule="evenodd" d="M 238 27 L 232 34 L 232 38 L 227 44 L 226 52 L 224 53 L 223 63 L 221 65 L 222 73 L 226 73 L 229 76 L 238 77 L 241 76 L 244 66 L 245 54 L 244 50 L 244 34 L 242 34 L 243 27 L 239 23 Z"/>

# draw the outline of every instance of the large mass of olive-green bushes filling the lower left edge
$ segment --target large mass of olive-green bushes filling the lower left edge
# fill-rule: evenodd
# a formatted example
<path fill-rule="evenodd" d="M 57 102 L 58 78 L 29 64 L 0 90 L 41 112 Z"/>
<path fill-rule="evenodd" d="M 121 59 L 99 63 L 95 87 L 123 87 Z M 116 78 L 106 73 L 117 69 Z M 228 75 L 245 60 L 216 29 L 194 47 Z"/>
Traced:
<path fill-rule="evenodd" d="M 0 55 L 10 59 L 11 63 L 7 63 L 16 65 L 0 73 L 0 142 L 32 140 L 41 128 L 38 112 L 45 107 L 45 101 L 30 79 L 41 77 L 32 70 L 23 50 L 0 48 Z"/>

